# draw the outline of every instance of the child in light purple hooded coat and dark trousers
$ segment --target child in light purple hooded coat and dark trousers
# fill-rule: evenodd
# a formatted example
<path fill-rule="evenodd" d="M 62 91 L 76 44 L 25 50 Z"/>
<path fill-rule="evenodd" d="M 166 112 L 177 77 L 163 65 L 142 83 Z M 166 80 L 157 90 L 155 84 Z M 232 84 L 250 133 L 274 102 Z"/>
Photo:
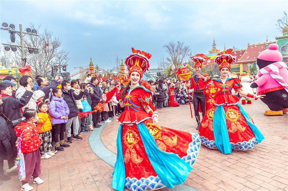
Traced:
<path fill-rule="evenodd" d="M 64 143 L 65 124 L 68 121 L 69 107 L 62 97 L 62 90 L 60 88 L 53 88 L 50 97 L 49 114 L 52 117 L 52 124 L 54 127 L 54 141 L 55 149 L 63 151 L 63 147 L 70 147 Z M 59 144 L 60 135 L 60 144 Z"/>

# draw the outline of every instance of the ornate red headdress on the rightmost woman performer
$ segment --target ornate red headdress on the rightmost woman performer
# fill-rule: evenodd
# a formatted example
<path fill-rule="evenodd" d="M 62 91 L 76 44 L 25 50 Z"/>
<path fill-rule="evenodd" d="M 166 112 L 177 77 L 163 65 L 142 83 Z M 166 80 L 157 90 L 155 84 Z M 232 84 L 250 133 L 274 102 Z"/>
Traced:
<path fill-rule="evenodd" d="M 219 70 L 222 68 L 228 68 L 230 70 L 230 65 L 236 62 L 236 58 L 231 55 L 232 52 L 233 49 L 228 49 L 217 54 L 214 61 L 219 65 Z"/>

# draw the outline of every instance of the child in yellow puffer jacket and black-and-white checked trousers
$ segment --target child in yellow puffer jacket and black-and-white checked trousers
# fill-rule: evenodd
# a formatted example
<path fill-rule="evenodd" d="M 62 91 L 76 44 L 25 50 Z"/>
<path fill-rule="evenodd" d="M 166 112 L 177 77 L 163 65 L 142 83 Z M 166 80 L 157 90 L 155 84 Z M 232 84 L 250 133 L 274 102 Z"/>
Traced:
<path fill-rule="evenodd" d="M 48 159 L 55 155 L 51 152 L 51 116 L 47 114 L 48 105 L 46 103 L 40 103 L 38 105 L 38 110 L 40 110 L 40 113 L 37 113 L 37 116 L 39 117 L 39 120 L 37 121 L 37 129 L 39 136 L 43 140 L 39 150 L 41 153 L 41 159 Z"/>

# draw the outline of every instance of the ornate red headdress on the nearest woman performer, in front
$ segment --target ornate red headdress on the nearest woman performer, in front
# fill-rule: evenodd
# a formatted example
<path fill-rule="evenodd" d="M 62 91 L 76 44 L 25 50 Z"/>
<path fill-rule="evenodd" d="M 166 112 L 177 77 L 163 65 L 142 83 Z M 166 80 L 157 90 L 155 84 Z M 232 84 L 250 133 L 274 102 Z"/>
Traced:
<path fill-rule="evenodd" d="M 129 76 L 131 72 L 138 72 L 140 74 L 140 78 L 143 76 L 143 72 L 149 71 L 151 54 L 135 50 L 132 48 L 132 54 L 127 56 L 125 59 L 125 65 L 129 70 Z"/>

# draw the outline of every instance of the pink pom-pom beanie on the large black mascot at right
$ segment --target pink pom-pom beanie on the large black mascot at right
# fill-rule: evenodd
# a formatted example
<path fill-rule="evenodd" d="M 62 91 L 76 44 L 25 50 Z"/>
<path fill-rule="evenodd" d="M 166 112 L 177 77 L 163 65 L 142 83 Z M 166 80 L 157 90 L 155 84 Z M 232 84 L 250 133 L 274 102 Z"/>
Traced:
<path fill-rule="evenodd" d="M 259 55 L 258 59 L 279 62 L 282 61 L 282 54 L 278 51 L 278 45 L 272 43 L 268 46 L 268 49 L 263 50 Z"/>

